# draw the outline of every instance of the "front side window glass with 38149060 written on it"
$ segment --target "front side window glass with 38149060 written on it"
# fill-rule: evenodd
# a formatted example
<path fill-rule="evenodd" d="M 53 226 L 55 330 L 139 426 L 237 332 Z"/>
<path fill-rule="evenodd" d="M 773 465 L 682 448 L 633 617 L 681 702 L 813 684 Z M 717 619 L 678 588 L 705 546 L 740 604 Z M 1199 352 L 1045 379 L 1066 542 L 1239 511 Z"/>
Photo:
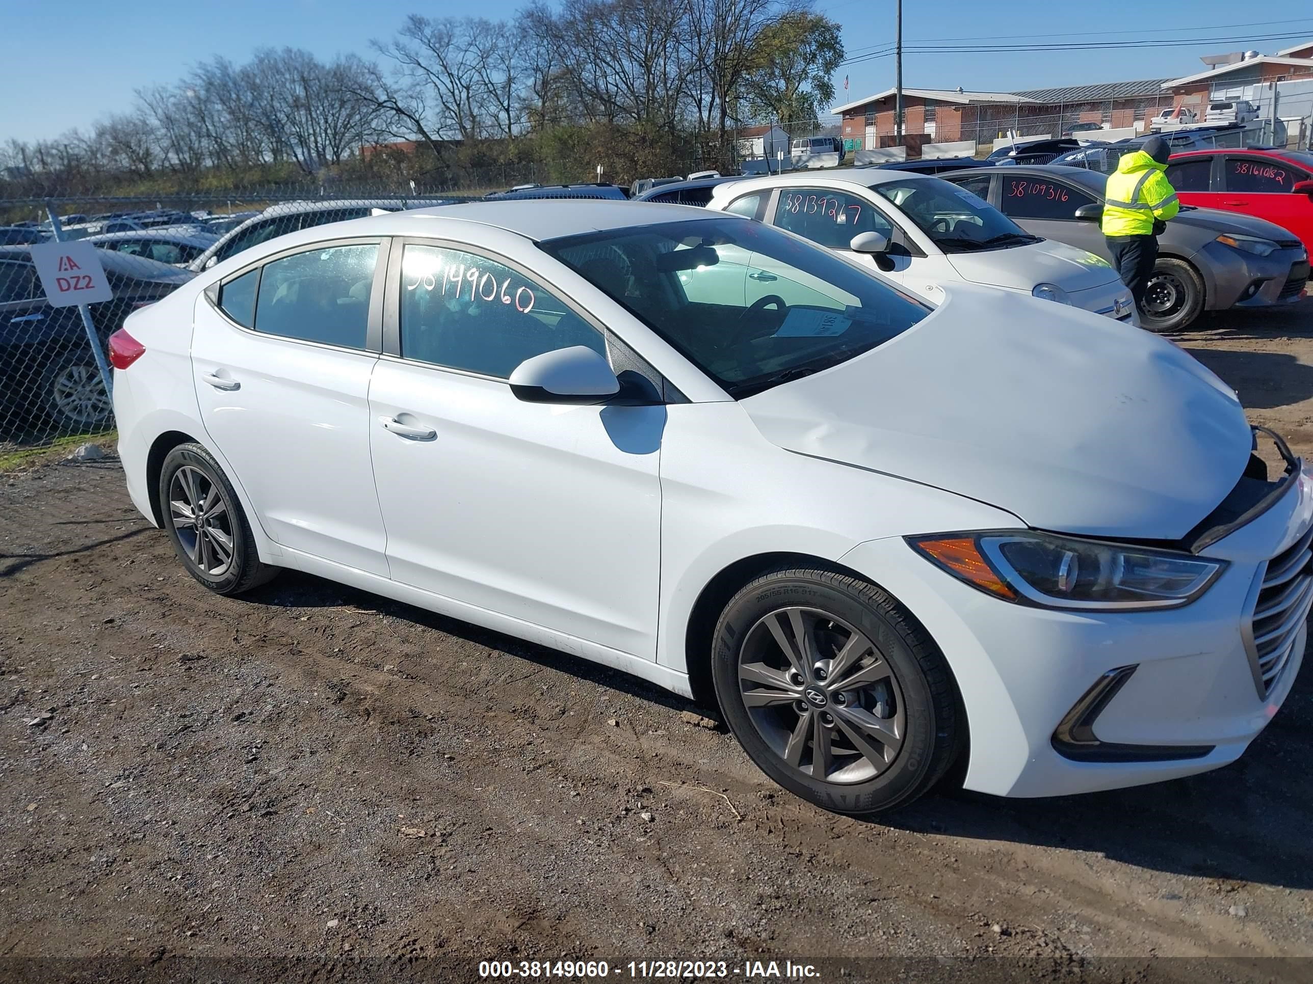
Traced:
<path fill-rule="evenodd" d="M 599 253 L 584 266 L 604 290 L 625 295 L 628 273 L 617 260 Z M 527 358 L 574 345 L 607 356 L 601 335 L 541 285 L 487 257 L 439 247 L 402 253 L 399 328 L 403 358 L 498 379 Z"/>

